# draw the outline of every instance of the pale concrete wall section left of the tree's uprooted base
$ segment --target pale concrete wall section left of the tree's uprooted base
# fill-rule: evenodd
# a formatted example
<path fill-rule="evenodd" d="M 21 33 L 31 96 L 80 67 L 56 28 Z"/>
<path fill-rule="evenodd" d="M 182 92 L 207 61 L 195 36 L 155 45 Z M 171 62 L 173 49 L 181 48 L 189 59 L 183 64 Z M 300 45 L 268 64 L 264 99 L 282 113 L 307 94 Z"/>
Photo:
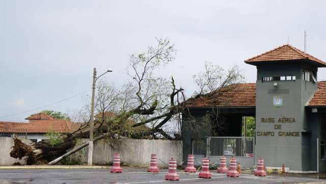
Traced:
<path fill-rule="evenodd" d="M 24 143 L 31 143 L 29 139 L 23 139 L 22 142 Z M 3 166 L 10 166 L 15 162 L 19 162 L 21 165 L 25 165 L 26 162 L 24 159 L 14 159 L 10 157 L 9 153 L 12 150 L 12 146 L 14 145 L 14 140 L 11 137 L 0 137 L 0 165 Z"/>

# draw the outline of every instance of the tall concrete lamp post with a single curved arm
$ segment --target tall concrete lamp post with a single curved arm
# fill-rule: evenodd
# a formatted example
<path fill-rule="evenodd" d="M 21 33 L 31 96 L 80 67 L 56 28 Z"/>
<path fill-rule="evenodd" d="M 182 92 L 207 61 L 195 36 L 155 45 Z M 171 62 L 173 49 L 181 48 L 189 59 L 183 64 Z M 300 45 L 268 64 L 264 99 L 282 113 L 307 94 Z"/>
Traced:
<path fill-rule="evenodd" d="M 107 70 L 102 75 L 107 72 L 113 72 L 111 69 Z M 88 145 L 88 165 L 93 165 L 93 140 L 94 140 L 94 103 L 95 103 L 95 83 L 98 78 L 102 75 L 96 77 L 96 68 L 93 71 L 93 85 L 92 85 L 92 105 L 91 105 L 91 125 L 90 125 L 90 141 Z"/>

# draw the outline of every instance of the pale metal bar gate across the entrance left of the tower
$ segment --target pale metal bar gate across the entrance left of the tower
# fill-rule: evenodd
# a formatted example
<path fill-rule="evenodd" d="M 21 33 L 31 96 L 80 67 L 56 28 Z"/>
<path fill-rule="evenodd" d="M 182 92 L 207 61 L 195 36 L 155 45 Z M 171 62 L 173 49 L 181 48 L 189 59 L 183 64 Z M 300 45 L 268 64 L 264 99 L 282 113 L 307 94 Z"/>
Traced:
<path fill-rule="evenodd" d="M 227 162 L 232 157 L 237 158 L 244 168 L 255 165 L 255 138 L 254 137 L 206 137 L 192 141 L 195 164 L 200 165 L 204 157 L 209 158 L 211 163 L 220 163 L 222 156 L 227 158 Z"/>

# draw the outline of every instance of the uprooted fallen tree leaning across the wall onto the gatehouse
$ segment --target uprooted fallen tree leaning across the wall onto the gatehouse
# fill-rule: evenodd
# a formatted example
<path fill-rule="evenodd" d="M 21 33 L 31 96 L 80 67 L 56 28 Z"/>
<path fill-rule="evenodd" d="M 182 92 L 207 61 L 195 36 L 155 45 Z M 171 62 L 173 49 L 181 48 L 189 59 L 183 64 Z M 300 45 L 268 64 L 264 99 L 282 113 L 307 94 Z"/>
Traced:
<path fill-rule="evenodd" d="M 154 73 L 174 59 L 174 45 L 167 39 L 157 39 L 155 47 L 149 47 L 147 52 L 130 56 L 130 68 L 128 75 L 132 79 L 118 89 L 105 81 L 97 85 L 95 109 L 100 117 L 95 121 L 94 141 L 99 139 L 117 139 L 122 132 L 132 131 L 135 128 L 150 127 L 152 132 L 162 133 L 163 128 L 170 122 L 180 130 L 181 113 L 186 113 L 186 104 L 193 99 L 200 98 L 205 93 L 214 93 L 225 86 L 239 82 L 242 76 L 237 67 L 225 72 L 211 64 L 205 64 L 206 71 L 198 77 L 194 77 L 200 87 L 199 93 L 186 99 L 184 89 L 176 87 L 173 77 L 165 79 L 155 77 Z M 89 103 L 88 103 L 89 104 Z M 60 160 L 73 154 L 75 151 L 87 146 L 84 143 L 74 148 L 76 139 L 88 138 L 89 135 L 89 106 L 80 111 L 78 119 L 80 123 L 72 133 L 61 134 L 59 142 L 37 142 L 25 144 L 14 136 L 13 150 L 10 156 L 13 158 L 25 158 L 27 165 L 56 164 Z M 114 116 L 109 118 L 105 112 L 111 112 Z M 191 117 L 191 114 L 189 114 Z M 132 122 L 132 123 L 131 123 Z M 193 125 L 193 126 L 192 126 Z M 196 121 L 187 127 L 197 130 Z"/>

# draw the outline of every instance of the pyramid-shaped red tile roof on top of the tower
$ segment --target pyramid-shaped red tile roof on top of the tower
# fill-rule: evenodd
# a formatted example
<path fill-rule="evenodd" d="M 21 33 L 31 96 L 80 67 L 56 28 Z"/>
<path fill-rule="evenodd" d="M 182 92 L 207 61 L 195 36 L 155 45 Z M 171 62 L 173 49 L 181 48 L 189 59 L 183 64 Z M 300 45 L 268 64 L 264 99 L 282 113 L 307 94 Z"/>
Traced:
<path fill-rule="evenodd" d="M 260 62 L 270 62 L 270 61 L 281 61 L 281 60 L 299 60 L 299 59 L 309 59 L 311 62 L 321 66 L 326 67 L 326 63 L 313 57 L 291 45 L 282 45 L 273 50 L 267 51 L 255 57 L 245 60 L 247 64 L 255 65 Z"/>

